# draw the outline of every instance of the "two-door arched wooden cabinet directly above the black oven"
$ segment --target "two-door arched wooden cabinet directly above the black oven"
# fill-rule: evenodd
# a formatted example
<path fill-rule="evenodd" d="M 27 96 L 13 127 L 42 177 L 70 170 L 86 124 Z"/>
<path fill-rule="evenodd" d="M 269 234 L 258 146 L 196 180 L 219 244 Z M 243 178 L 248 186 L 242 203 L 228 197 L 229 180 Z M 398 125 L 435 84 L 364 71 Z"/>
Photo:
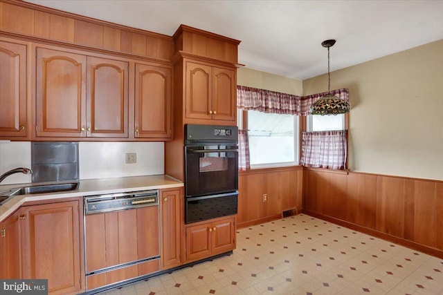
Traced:
<path fill-rule="evenodd" d="M 186 118 L 235 121 L 236 71 L 186 61 Z"/>

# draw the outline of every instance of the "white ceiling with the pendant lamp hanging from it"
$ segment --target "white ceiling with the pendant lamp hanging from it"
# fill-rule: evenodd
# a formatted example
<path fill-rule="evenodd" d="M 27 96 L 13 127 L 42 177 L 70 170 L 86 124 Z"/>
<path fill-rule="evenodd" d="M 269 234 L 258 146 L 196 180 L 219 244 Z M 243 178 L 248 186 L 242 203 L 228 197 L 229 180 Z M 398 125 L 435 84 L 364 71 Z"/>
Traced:
<path fill-rule="evenodd" d="M 443 0 L 30 0 L 172 36 L 181 23 L 242 41 L 239 64 L 296 79 L 443 39 Z M 443 55 L 443 53 L 442 53 Z"/>

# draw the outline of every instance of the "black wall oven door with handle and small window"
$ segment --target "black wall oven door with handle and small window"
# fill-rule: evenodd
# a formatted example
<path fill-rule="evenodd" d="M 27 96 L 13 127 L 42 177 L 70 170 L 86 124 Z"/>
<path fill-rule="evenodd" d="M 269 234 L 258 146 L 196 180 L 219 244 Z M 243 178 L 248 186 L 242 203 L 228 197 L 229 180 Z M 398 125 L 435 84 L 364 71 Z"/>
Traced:
<path fill-rule="evenodd" d="M 186 146 L 186 196 L 238 189 L 237 146 Z"/>

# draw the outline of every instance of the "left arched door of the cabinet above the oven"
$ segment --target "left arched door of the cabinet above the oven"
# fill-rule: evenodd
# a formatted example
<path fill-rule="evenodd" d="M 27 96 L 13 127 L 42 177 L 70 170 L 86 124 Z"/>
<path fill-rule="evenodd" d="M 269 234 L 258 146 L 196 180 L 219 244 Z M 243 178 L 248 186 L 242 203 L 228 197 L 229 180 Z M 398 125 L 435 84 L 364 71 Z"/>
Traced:
<path fill-rule="evenodd" d="M 192 119 L 210 119 L 213 113 L 211 105 L 212 68 L 204 64 L 186 62 L 186 117 Z"/>

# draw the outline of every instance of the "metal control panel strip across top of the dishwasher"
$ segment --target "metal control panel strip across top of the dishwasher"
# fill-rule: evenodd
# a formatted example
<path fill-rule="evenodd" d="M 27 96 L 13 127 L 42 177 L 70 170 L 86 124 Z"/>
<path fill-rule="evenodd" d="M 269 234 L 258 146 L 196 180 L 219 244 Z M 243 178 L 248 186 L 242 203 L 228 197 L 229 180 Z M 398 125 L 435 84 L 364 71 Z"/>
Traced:
<path fill-rule="evenodd" d="M 100 196 L 89 196 L 84 199 L 84 213 L 119 211 L 136 207 L 159 204 L 158 191 L 135 191 L 132 193 L 113 193 Z"/>

